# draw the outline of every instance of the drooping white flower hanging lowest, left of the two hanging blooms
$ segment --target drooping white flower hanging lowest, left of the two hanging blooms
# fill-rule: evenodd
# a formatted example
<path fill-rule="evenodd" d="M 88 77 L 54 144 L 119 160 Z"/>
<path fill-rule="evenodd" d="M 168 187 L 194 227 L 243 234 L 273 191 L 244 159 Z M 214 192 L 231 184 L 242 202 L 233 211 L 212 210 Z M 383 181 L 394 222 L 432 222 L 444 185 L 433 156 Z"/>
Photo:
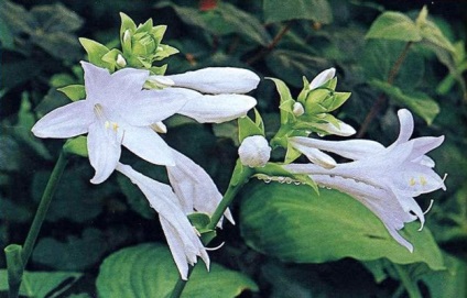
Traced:
<path fill-rule="evenodd" d="M 182 278 L 187 279 L 188 264 L 194 265 L 197 256 L 203 258 L 206 267 L 209 268 L 206 249 L 171 187 L 142 175 L 128 165 L 118 163 L 117 170 L 141 189 L 151 207 L 159 213 L 162 229 Z"/>

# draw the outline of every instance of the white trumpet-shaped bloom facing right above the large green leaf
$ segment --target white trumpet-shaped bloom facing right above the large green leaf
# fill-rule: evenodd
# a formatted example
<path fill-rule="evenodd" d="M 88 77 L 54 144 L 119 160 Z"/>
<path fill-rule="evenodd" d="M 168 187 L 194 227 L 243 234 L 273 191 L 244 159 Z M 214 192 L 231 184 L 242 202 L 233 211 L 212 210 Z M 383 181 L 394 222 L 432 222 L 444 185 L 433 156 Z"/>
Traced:
<path fill-rule="evenodd" d="M 318 185 L 352 196 L 381 219 L 400 244 L 413 251 L 412 244 L 397 231 L 405 222 L 416 219 L 421 221 L 422 229 L 424 212 L 413 198 L 439 188 L 445 189 L 443 179 L 433 170 L 433 159 L 425 155 L 439 146 L 444 136 L 409 140 L 413 132 L 412 114 L 403 109 L 398 115 L 401 131 L 398 140 L 389 147 L 368 140 L 333 142 L 292 137 L 293 142 L 300 144 L 297 150 L 323 150 L 354 162 L 336 163 L 328 168 L 318 165 L 319 163 L 291 164 L 285 168 L 293 173 L 308 174 Z M 303 152 L 306 154 L 306 150 Z M 315 158 L 317 154 L 314 155 Z"/>

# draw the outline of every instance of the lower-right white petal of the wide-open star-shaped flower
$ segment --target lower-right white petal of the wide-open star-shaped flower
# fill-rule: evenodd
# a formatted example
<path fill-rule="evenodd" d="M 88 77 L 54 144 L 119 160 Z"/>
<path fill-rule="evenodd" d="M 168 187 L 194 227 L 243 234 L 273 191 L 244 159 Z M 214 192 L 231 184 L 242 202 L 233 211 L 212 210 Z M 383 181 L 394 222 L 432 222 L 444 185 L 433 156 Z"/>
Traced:
<path fill-rule="evenodd" d="M 124 128 L 122 144 L 146 162 L 156 165 L 174 165 L 172 148 L 149 126 Z"/>

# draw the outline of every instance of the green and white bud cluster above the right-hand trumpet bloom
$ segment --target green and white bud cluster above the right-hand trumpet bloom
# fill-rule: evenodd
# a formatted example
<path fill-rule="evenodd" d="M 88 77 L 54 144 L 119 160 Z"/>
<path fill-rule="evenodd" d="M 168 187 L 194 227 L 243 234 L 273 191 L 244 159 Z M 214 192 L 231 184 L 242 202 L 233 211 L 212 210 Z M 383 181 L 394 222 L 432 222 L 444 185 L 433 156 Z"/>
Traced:
<path fill-rule="evenodd" d="M 317 75 L 311 82 L 304 77 L 303 89 L 294 99 L 287 86 L 280 79 L 271 78 L 281 97 L 281 128 L 271 141 L 273 147 L 287 148 L 285 162 L 295 159 L 298 154 L 289 146 L 292 136 L 319 136 L 335 134 L 348 136 L 355 130 L 335 118 L 330 112 L 338 109 L 350 97 L 350 92 L 336 91 L 336 69 L 329 68 Z"/>

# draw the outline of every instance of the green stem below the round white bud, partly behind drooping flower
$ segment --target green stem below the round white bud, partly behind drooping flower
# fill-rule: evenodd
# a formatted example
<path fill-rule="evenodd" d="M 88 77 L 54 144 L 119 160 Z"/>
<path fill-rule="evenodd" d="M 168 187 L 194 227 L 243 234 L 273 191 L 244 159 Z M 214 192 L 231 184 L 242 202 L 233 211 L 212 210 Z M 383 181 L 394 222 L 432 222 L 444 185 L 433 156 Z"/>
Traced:
<path fill-rule="evenodd" d="M 249 167 L 245 167 L 240 161 L 237 161 L 237 164 L 234 168 L 232 178 L 230 179 L 229 186 L 227 188 L 226 194 L 222 197 L 222 200 L 217 206 L 216 210 L 214 211 L 213 216 L 210 217 L 210 222 L 207 225 L 209 230 L 215 230 L 217 227 L 217 223 L 219 220 L 224 217 L 224 213 L 226 212 L 227 208 L 230 206 L 230 203 L 234 201 L 235 197 L 237 196 L 238 191 L 241 189 L 241 187 L 248 181 L 250 176 L 253 174 L 253 169 Z M 208 243 L 204 243 L 205 245 Z M 188 278 L 192 274 L 194 267 L 189 267 L 188 269 Z M 172 290 L 172 294 L 170 298 L 180 298 L 182 296 L 182 293 L 186 286 L 187 280 L 183 280 L 181 277 L 178 277 L 177 283 L 175 284 L 174 289 Z"/>

